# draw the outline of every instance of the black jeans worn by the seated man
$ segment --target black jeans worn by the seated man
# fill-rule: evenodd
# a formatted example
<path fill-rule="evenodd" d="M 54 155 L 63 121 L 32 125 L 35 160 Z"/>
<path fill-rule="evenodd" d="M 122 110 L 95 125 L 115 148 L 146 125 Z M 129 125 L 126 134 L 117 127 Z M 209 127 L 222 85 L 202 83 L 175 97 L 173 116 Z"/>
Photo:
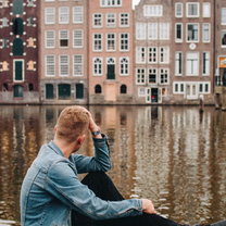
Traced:
<path fill-rule="evenodd" d="M 110 177 L 104 173 L 89 173 L 81 183 L 87 185 L 97 197 L 109 200 L 124 200 Z M 72 226 L 179 226 L 179 224 L 158 214 L 146 214 L 106 221 L 95 221 L 72 211 Z"/>

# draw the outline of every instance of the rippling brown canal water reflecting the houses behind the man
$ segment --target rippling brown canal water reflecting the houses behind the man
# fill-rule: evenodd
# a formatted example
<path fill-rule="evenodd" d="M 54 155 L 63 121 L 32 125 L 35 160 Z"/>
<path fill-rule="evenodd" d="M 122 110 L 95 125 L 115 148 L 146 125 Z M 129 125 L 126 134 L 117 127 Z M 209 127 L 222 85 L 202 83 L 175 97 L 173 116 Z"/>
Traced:
<path fill-rule="evenodd" d="M 0 225 L 20 225 L 20 188 L 63 106 L 0 106 Z M 153 200 L 184 224 L 226 218 L 226 112 L 192 106 L 89 106 L 109 136 L 109 172 L 126 198 Z M 80 153 L 92 155 L 87 134 Z"/>

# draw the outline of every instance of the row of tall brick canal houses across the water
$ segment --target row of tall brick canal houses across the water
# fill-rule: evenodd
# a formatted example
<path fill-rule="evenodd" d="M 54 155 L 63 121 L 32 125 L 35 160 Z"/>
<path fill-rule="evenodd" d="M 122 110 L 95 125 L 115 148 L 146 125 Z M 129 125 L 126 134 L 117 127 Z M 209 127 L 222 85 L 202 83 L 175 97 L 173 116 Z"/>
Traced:
<path fill-rule="evenodd" d="M 0 0 L 0 103 L 224 104 L 226 0 Z"/>

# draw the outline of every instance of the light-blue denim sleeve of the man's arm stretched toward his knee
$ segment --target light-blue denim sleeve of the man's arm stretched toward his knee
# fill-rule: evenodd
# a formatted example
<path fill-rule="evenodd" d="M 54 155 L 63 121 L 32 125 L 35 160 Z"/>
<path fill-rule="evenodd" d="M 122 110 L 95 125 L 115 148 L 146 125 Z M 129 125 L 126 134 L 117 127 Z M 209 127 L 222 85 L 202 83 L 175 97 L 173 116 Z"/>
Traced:
<path fill-rule="evenodd" d="M 66 161 L 54 163 L 48 171 L 46 190 L 75 211 L 95 219 L 142 214 L 141 200 L 104 201 L 83 185 Z"/>

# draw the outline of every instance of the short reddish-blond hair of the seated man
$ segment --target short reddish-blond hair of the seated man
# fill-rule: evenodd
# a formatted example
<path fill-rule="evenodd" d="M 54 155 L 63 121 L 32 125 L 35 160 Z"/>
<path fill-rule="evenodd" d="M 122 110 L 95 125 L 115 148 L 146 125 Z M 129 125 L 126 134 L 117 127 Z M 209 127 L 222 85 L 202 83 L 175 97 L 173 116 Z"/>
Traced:
<path fill-rule="evenodd" d="M 84 135 L 89 126 L 89 114 L 83 106 L 73 105 L 65 108 L 56 123 L 56 138 L 73 142 L 78 136 Z"/>

